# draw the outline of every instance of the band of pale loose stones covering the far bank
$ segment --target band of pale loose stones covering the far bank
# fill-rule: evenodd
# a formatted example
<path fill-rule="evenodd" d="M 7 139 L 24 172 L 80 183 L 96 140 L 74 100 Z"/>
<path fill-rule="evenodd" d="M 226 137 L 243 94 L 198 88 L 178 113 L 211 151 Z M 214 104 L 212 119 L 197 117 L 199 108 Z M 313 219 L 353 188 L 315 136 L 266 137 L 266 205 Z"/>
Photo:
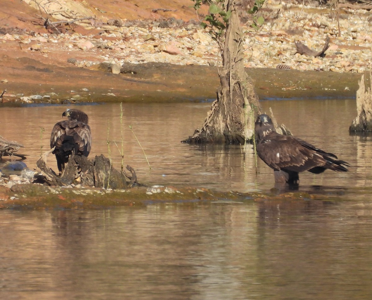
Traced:
<path fill-rule="evenodd" d="M 246 34 L 246 67 L 275 68 L 286 64 L 302 71 L 361 73 L 371 63 L 371 14 L 368 10 L 339 9 L 338 23 L 334 10 L 327 6 L 267 1 L 262 15 L 265 22 L 257 31 L 249 26 L 249 20 L 242 24 Z M 82 21 L 81 25 L 91 34 L 71 31 L 58 35 L 7 33 L 0 40 L 3 44 L 15 41 L 21 48 L 45 57 L 56 50 L 67 52 L 66 63 L 78 67 L 91 67 L 103 61 L 120 66 L 148 62 L 221 65 L 217 42 L 199 23 L 176 18 L 162 21 L 109 19 L 92 26 Z M 325 57 L 296 53 L 295 42 L 321 50 L 327 36 L 331 40 Z"/>

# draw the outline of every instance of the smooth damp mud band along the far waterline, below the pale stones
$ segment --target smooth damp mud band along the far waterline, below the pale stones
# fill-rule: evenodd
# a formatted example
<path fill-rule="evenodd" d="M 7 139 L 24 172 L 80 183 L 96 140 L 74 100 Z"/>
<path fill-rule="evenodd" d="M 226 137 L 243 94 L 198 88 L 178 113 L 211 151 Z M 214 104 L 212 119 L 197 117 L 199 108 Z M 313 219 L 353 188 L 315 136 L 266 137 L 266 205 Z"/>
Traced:
<path fill-rule="evenodd" d="M 55 95 L 34 102 L 58 104 L 69 99 L 73 99 L 71 103 L 205 101 L 216 98 L 220 84 L 217 67 L 212 66 L 147 63 L 136 74 L 112 74 L 105 68 L 66 68 L 31 59 L 23 59 L 22 63 L 23 71 L 14 73 L 17 77 L 10 77 L 9 82 L 2 85 L 8 94 L 14 95 L 4 97 L 2 105 L 26 104 L 20 100 L 20 95 L 50 93 Z M 40 81 L 38 78 L 45 75 L 43 70 L 46 69 L 48 76 Z M 361 77 L 357 73 L 264 68 L 249 68 L 246 72 L 260 100 L 355 98 Z"/>

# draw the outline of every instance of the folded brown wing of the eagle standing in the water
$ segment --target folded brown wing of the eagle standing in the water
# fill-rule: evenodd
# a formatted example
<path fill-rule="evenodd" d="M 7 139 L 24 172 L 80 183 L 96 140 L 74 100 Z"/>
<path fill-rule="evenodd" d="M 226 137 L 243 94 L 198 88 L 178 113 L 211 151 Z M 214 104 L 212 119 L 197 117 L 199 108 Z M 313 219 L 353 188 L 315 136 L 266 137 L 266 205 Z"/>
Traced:
<path fill-rule="evenodd" d="M 324 166 L 327 161 L 323 155 L 312 149 L 310 144 L 306 144 L 303 145 L 302 140 L 293 136 L 283 136 L 272 132 L 257 144 L 257 154 L 274 170 L 297 173 L 308 171 L 315 167 L 321 167 L 325 170 L 327 167 Z"/>

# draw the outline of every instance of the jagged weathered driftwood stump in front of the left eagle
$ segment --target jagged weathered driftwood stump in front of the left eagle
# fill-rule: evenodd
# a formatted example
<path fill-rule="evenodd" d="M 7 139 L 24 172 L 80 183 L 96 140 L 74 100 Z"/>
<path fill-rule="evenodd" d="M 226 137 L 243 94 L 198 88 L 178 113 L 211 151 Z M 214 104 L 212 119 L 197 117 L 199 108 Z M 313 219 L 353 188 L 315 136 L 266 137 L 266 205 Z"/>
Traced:
<path fill-rule="evenodd" d="M 137 184 L 135 171 L 129 165 L 126 169 L 131 173 L 127 176 L 124 172 L 119 172 L 110 160 L 101 155 L 96 155 L 94 160 L 85 156 L 70 156 L 62 174 L 57 175 L 47 165 L 47 157 L 53 149 L 45 152 L 36 165 L 41 170 L 42 176 L 38 178 L 39 183 L 49 186 L 68 186 L 71 184 L 81 184 L 86 187 L 103 187 L 105 189 L 128 189 Z M 127 181 L 126 178 L 129 180 Z"/>

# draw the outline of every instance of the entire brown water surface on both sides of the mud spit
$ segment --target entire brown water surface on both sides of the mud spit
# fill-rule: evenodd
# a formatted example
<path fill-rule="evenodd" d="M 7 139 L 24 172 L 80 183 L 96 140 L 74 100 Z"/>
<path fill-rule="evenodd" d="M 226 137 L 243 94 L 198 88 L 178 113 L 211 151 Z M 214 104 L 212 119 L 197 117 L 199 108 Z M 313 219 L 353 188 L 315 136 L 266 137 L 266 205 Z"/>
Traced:
<path fill-rule="evenodd" d="M 349 136 L 355 100 L 262 104 L 294 135 L 352 165 L 300 175 L 299 189 L 323 201 L 0 211 L 1 299 L 371 299 L 372 139 Z M 0 108 L 0 135 L 23 143 L 35 168 L 67 107 Z M 124 104 L 122 126 L 118 104 L 79 108 L 90 116 L 91 155 L 110 151 L 120 168 L 123 145 L 124 164 L 143 183 L 273 187 L 261 161 L 256 174 L 249 145 L 180 143 L 210 104 Z"/>

